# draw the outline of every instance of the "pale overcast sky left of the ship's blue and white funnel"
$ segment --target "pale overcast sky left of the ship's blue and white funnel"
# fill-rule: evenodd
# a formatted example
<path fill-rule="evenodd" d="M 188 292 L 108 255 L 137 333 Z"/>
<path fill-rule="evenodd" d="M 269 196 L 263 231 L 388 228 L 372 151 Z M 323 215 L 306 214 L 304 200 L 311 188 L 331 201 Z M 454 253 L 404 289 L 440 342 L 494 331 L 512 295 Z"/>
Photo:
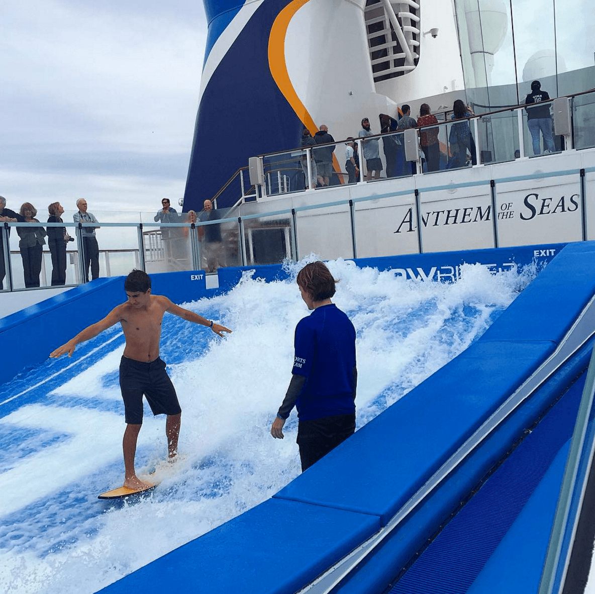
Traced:
<path fill-rule="evenodd" d="M 183 196 L 206 42 L 200 0 L 4 0 L 0 195 L 154 211 Z"/>

